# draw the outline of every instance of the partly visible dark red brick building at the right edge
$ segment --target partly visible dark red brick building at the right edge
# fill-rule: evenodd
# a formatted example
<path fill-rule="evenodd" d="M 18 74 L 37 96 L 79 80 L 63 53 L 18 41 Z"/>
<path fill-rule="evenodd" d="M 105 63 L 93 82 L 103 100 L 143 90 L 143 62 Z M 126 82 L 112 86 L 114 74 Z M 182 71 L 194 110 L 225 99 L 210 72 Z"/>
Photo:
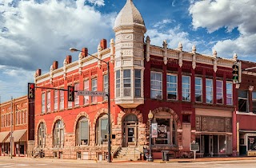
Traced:
<path fill-rule="evenodd" d="M 240 155 L 256 155 L 256 63 L 240 61 L 241 83 L 237 86 L 237 143 Z"/>

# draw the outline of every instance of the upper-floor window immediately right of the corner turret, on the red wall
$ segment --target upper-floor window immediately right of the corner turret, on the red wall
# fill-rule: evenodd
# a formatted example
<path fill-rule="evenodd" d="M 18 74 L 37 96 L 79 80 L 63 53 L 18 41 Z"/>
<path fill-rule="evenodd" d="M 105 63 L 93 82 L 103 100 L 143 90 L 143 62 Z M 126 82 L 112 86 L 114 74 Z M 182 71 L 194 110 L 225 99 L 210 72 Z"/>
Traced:
<path fill-rule="evenodd" d="M 162 100 L 162 72 L 150 72 L 150 98 Z"/>

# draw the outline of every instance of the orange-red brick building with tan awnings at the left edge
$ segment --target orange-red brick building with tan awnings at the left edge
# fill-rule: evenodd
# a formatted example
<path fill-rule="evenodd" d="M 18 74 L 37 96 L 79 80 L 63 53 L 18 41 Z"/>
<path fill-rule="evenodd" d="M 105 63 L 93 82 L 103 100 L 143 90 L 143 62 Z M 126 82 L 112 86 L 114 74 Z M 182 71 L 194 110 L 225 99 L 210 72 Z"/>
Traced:
<path fill-rule="evenodd" d="M 0 104 L 0 155 L 32 156 L 34 149 L 34 103 L 22 96 Z M 13 119 L 12 117 L 13 116 Z M 12 131 L 12 135 L 11 135 Z"/>

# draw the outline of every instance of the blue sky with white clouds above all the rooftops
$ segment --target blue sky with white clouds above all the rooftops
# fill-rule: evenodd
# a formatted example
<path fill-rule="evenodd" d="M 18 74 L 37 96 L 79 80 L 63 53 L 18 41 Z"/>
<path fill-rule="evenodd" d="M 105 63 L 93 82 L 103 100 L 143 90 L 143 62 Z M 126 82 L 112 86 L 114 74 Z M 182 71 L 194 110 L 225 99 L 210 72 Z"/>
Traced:
<path fill-rule="evenodd" d="M 114 38 L 114 19 L 126 0 L 0 0 L 0 96 L 25 96 L 34 72 L 48 72 L 53 61 L 97 50 Z M 134 0 L 152 45 L 175 49 L 181 41 L 190 51 L 256 61 L 255 0 Z"/>

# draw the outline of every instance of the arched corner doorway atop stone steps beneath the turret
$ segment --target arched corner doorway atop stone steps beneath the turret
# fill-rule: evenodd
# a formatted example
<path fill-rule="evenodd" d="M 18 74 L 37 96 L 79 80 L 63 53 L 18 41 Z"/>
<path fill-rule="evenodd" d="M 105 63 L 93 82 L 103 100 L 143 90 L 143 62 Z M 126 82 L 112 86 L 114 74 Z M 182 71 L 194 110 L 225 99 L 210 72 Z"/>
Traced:
<path fill-rule="evenodd" d="M 122 147 L 137 147 L 138 117 L 134 114 L 126 115 L 122 124 Z"/>

